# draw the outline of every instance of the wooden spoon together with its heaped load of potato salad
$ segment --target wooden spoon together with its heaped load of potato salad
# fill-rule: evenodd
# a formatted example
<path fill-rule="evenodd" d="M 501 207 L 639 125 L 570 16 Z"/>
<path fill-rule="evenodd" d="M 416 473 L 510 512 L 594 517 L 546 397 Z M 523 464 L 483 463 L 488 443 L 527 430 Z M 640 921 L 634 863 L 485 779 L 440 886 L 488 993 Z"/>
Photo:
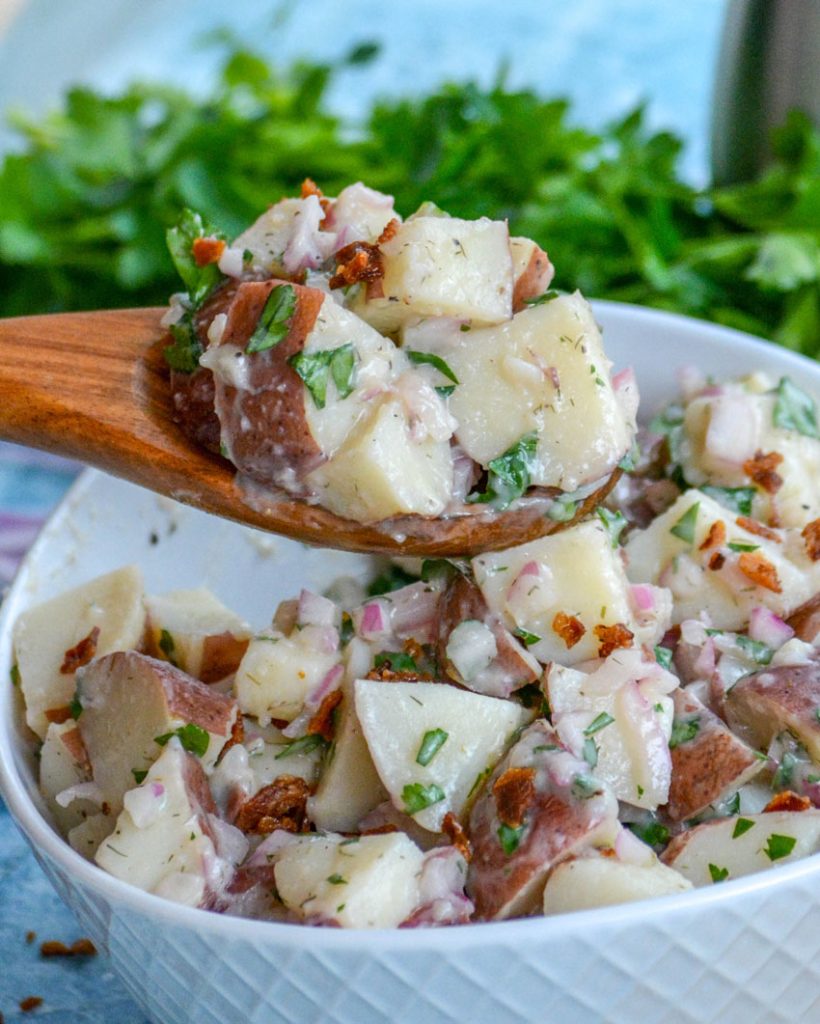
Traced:
<path fill-rule="evenodd" d="M 468 555 L 628 465 L 638 390 L 504 221 L 310 181 L 228 242 L 185 211 L 167 310 L 0 322 L 0 436 L 310 544 Z"/>

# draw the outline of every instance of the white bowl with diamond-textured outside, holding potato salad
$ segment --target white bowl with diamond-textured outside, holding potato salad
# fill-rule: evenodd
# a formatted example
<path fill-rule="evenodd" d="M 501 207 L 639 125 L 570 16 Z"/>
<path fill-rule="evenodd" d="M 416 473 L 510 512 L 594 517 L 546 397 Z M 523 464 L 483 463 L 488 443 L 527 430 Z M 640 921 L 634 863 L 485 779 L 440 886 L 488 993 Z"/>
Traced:
<path fill-rule="evenodd" d="M 598 303 L 607 351 L 633 365 L 644 413 L 676 368 L 787 374 L 820 396 L 820 368 L 713 325 Z M 244 530 L 85 473 L 29 554 L 0 613 L 0 678 L 23 608 L 126 562 L 149 591 L 205 584 L 261 625 L 301 585 L 363 573 L 364 559 Z M 346 932 L 243 921 L 131 889 L 52 829 L 19 724 L 0 688 L 0 781 L 57 892 L 153 1020 L 651 1022 L 820 1019 L 820 858 L 694 893 L 550 919 Z"/>

